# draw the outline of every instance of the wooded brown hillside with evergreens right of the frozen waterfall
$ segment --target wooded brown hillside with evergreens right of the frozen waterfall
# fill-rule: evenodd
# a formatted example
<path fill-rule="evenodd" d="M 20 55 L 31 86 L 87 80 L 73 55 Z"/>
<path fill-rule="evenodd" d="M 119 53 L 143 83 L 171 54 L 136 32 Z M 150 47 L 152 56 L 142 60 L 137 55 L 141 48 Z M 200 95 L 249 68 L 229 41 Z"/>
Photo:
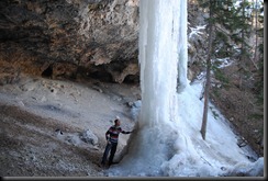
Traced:
<path fill-rule="evenodd" d="M 237 121 L 235 125 L 244 126 L 242 135 L 250 138 L 252 146 L 258 149 L 264 137 L 264 1 L 198 2 L 204 13 L 212 5 L 214 10 L 213 15 L 205 19 L 206 24 L 212 23 L 214 27 L 213 32 L 206 30 L 213 34 L 211 71 L 212 80 L 217 84 L 211 89 L 212 99 L 219 99 L 217 103 L 226 115 Z M 221 68 L 219 60 L 225 58 L 233 60 L 233 65 Z M 232 104 L 237 104 L 236 111 L 230 109 Z M 261 155 L 261 149 L 258 151 Z"/>

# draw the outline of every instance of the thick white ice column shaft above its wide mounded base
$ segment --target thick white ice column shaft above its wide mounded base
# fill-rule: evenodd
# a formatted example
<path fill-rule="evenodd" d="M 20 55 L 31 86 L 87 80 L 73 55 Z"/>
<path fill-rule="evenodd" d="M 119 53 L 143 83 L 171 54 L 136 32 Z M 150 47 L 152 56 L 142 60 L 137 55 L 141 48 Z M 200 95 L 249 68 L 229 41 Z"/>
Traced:
<path fill-rule="evenodd" d="M 179 27 L 180 1 L 141 1 L 139 8 L 143 102 L 139 126 L 160 126 L 174 120 L 177 65 L 178 59 L 185 57 L 178 54 L 183 47 L 179 42 L 180 31 L 183 31 Z"/>

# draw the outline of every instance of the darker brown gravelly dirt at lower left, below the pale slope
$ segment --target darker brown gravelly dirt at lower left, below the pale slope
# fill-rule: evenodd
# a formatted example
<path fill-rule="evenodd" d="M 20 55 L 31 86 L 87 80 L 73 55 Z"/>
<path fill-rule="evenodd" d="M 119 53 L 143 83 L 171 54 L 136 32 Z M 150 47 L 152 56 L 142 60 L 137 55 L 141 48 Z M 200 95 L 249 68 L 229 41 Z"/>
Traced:
<path fill-rule="evenodd" d="M 98 167 L 101 150 L 74 145 L 69 135 L 78 129 L 42 118 L 15 106 L 0 106 L 1 176 L 87 177 L 103 176 Z M 63 135 L 55 132 L 63 128 Z M 65 136 L 66 135 L 66 136 Z"/>

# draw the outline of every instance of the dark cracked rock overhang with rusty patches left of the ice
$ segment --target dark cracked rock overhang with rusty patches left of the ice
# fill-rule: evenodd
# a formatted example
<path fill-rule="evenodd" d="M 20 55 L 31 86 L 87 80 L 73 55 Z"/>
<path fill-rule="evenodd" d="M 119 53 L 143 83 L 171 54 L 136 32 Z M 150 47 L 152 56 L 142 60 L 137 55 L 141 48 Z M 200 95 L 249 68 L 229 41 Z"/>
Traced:
<path fill-rule="evenodd" d="M 1 0 L 0 82 L 19 73 L 138 80 L 138 0 Z"/>

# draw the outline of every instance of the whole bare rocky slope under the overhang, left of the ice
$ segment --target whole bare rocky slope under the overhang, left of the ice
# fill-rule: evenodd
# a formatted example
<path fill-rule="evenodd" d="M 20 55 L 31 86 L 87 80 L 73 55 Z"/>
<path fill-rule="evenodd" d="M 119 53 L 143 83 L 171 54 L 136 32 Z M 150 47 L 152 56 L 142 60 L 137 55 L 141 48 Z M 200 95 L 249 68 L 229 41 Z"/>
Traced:
<path fill-rule="evenodd" d="M 22 77 L 0 87 L 1 177 L 105 177 L 105 131 L 133 129 L 135 84 Z M 120 135 L 115 160 L 129 135 Z"/>

